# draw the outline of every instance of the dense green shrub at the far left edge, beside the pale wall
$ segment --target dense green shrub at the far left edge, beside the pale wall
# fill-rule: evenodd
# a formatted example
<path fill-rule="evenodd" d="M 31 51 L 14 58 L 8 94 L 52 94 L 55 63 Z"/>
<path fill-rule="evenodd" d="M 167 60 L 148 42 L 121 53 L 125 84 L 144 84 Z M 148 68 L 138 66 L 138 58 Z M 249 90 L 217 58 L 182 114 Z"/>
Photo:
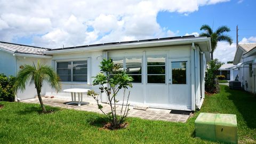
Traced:
<path fill-rule="evenodd" d="M 15 77 L 7 77 L 4 74 L 0 74 L 0 101 L 14 101 L 15 94 L 13 92 L 13 85 Z"/>

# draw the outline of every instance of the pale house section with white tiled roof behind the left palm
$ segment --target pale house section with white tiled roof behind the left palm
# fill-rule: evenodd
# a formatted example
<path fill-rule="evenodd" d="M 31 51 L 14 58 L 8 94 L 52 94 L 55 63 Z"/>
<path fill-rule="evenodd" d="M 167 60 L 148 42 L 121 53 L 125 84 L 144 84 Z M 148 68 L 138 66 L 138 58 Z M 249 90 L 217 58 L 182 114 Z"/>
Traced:
<path fill-rule="evenodd" d="M 38 59 L 41 60 L 41 63 L 51 64 L 47 62 L 51 61 L 52 56 L 45 55 L 44 51 L 46 50 L 45 48 L 36 46 L 0 42 L 0 74 L 16 76 L 17 71 L 23 65 L 31 65 L 33 61 L 36 63 Z M 44 89 L 42 89 L 42 93 L 45 93 Z M 22 100 L 30 99 L 36 97 L 37 92 L 35 86 L 28 85 L 24 92 L 19 92 L 17 95 Z"/>

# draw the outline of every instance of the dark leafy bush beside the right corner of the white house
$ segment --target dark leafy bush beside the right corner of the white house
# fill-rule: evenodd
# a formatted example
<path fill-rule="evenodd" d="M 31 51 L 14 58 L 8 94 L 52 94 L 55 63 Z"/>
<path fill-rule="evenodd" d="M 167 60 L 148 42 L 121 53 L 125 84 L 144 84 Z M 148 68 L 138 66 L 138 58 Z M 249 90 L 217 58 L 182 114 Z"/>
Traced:
<path fill-rule="evenodd" d="M 218 69 L 223 65 L 218 59 L 211 60 L 207 66 L 205 76 L 205 91 L 208 93 L 219 93 Z"/>

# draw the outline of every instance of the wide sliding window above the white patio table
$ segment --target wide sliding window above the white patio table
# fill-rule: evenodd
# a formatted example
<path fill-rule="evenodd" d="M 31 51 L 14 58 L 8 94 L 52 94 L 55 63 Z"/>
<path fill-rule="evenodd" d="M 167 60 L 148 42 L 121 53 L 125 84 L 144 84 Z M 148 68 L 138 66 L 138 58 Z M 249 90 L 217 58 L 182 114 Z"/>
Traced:
<path fill-rule="evenodd" d="M 87 82 L 87 61 L 57 62 L 57 74 L 63 82 Z"/>

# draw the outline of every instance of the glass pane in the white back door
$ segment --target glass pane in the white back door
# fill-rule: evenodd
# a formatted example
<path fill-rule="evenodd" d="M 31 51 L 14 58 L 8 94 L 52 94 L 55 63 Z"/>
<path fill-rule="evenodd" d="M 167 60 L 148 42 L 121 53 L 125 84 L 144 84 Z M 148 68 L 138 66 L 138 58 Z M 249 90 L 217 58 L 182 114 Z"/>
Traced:
<path fill-rule="evenodd" d="M 187 61 L 172 62 L 172 84 L 187 84 Z"/>

